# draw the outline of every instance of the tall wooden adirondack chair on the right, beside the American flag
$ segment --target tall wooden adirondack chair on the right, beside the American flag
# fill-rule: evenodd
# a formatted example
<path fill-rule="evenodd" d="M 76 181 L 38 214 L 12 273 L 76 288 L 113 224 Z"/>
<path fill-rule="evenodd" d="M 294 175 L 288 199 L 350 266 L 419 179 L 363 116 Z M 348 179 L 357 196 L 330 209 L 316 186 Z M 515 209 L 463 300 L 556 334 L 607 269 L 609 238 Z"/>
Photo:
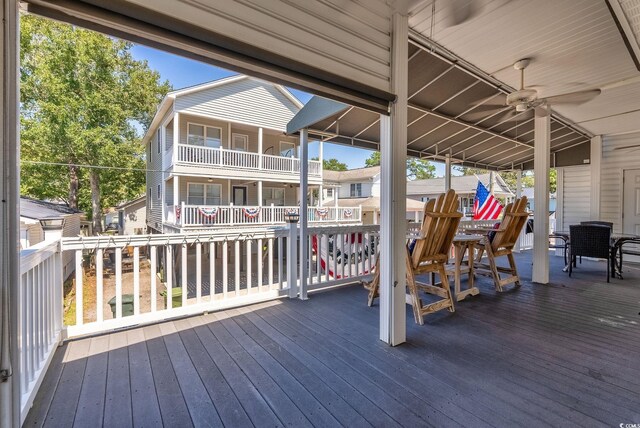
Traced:
<path fill-rule="evenodd" d="M 520 285 L 518 269 L 513 258 L 513 247 L 518 241 L 522 228 L 527 223 L 529 213 L 527 208 L 527 197 L 523 196 L 508 204 L 504 209 L 504 216 L 498 229 L 489 232 L 478 245 L 480 251 L 475 259 L 474 268 L 479 275 L 493 278 L 497 291 L 503 291 L 505 285 Z M 487 253 L 488 263 L 482 262 L 483 252 Z M 498 257 L 507 257 L 509 267 L 498 266 Z M 501 273 L 508 274 L 501 277 Z"/>

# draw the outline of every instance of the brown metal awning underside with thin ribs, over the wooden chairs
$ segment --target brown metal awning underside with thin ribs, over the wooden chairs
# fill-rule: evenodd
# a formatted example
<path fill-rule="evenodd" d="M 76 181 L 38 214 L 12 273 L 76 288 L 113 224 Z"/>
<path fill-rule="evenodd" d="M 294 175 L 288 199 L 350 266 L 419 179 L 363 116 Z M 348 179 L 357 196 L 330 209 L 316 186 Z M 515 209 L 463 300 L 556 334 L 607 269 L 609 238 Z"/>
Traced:
<path fill-rule="evenodd" d="M 432 159 L 450 154 L 458 164 L 491 170 L 530 166 L 533 111 L 515 114 L 513 108 L 506 107 L 506 93 L 511 90 L 410 41 L 407 154 Z M 379 149 L 379 114 L 337 103 L 333 114 L 327 115 L 331 108 L 323 103 L 322 113 L 314 121 L 309 112 L 314 104 L 312 99 L 309 108 L 305 106 L 299 113 L 305 115 L 310 135 L 332 143 Z M 290 130 L 299 129 L 294 128 Z M 552 114 L 552 165 L 557 154 L 569 149 L 581 146 L 589 153 L 590 137 Z M 583 156 L 573 157 L 575 164 L 584 162 Z M 568 163 L 566 159 L 563 162 Z"/>

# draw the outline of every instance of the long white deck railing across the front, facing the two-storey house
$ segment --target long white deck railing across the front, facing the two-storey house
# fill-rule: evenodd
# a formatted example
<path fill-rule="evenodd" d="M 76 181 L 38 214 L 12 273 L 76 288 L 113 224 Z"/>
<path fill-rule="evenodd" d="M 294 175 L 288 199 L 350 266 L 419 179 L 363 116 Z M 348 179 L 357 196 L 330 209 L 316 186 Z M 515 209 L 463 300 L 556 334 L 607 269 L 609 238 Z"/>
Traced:
<path fill-rule="evenodd" d="M 296 257 L 285 257 L 293 242 L 290 233 L 282 227 L 235 234 L 63 238 L 62 248 L 74 251 L 76 258 L 76 319 L 67 335 L 282 297 L 288 294 L 288 269 L 299 268 L 296 235 Z M 370 273 L 377 226 L 311 227 L 309 236 L 310 288 L 353 282 Z M 90 303 L 83 290 L 95 296 Z"/>

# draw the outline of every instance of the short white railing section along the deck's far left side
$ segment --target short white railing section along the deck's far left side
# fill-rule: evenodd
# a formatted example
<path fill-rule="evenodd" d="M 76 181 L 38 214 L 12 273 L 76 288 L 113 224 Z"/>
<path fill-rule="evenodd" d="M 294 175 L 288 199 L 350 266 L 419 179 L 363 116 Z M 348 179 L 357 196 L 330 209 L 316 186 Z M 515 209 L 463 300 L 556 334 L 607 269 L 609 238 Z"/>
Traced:
<path fill-rule="evenodd" d="M 20 252 L 18 346 L 21 417 L 27 416 L 62 332 L 62 257 L 59 241 Z"/>

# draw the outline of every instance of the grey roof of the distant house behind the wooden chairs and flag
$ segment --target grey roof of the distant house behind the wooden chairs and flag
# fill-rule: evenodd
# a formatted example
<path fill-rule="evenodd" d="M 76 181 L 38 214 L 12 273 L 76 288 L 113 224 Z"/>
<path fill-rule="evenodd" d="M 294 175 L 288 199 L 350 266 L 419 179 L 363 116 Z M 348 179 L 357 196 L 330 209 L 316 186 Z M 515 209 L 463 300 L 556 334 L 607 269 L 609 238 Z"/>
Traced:
<path fill-rule="evenodd" d="M 513 193 L 509 190 L 509 186 L 507 186 L 500 174 L 495 174 L 495 177 L 494 194 L 499 196 L 513 196 Z M 451 177 L 451 188 L 460 194 L 475 193 L 478 187 L 478 180 L 489 188 L 490 174 L 453 176 Z M 407 195 L 437 195 L 443 192 L 444 177 L 407 182 Z"/>

